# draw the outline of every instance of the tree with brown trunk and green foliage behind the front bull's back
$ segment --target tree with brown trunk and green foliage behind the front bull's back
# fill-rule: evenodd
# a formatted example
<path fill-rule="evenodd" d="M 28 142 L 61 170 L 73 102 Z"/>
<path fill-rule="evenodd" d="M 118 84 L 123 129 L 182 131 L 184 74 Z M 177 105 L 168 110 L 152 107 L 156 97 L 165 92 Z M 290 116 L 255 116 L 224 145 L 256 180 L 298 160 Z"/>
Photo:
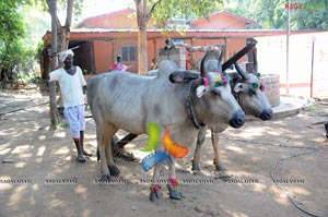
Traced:
<path fill-rule="evenodd" d="M 138 22 L 138 73 L 148 71 L 147 26 L 150 17 L 160 27 L 165 27 L 172 19 L 207 16 L 220 8 L 222 0 L 134 0 Z"/>

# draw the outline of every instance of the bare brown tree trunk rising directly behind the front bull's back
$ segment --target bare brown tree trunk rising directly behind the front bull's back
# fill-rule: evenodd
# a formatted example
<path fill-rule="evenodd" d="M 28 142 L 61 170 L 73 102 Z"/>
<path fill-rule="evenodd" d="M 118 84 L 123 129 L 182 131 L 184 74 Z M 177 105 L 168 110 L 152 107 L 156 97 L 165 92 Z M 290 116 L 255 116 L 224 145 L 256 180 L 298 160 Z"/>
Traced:
<path fill-rule="evenodd" d="M 148 72 L 147 24 L 149 21 L 148 0 L 134 0 L 138 21 L 138 74 Z"/>

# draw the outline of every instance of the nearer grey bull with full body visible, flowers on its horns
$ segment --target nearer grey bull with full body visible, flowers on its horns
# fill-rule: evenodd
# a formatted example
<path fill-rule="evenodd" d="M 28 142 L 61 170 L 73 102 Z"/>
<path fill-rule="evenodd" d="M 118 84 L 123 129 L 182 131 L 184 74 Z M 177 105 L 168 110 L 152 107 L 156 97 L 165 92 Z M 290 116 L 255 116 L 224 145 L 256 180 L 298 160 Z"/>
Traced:
<path fill-rule="evenodd" d="M 133 134 L 145 134 L 147 123 L 154 122 L 162 133 L 171 130 L 171 138 L 188 147 L 199 132 L 194 126 L 196 120 L 199 124 L 222 122 L 233 128 L 244 124 L 245 113 L 231 94 L 230 85 L 215 85 L 222 74 L 206 72 L 206 57 L 201 61 L 200 79 L 195 73 L 180 71 L 172 61 L 163 61 L 156 77 L 114 71 L 87 82 L 87 100 L 96 123 L 102 180 L 119 174 L 112 154 L 112 137 L 119 129 Z M 209 85 L 199 97 L 197 88 L 204 77 Z M 190 119 L 191 116 L 194 117 Z M 153 170 L 151 201 L 161 197 L 159 188 L 154 184 L 157 167 L 155 165 Z M 176 179 L 174 161 L 169 162 L 168 173 L 169 180 Z M 181 197 L 173 183 L 168 190 L 171 197 Z"/>

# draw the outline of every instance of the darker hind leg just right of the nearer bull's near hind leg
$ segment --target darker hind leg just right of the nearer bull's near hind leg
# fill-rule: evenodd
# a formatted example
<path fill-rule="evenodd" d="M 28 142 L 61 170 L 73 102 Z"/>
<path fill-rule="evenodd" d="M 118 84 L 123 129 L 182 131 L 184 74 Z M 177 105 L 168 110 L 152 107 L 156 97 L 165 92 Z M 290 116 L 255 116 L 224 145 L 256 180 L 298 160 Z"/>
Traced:
<path fill-rule="evenodd" d="M 113 152 L 112 152 L 112 140 L 114 134 L 118 131 L 118 129 L 114 125 L 110 125 L 109 130 L 106 133 L 106 158 L 107 158 L 107 166 L 108 166 L 108 170 L 110 176 L 118 176 L 119 174 L 119 169 L 116 167 L 115 162 L 114 162 L 114 158 L 113 158 Z"/>

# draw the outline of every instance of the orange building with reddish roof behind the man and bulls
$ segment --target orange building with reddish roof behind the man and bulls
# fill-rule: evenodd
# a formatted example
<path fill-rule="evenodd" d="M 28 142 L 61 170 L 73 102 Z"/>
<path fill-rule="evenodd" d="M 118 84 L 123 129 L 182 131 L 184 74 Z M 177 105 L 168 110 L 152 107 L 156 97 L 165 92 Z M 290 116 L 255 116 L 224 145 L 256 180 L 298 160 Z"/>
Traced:
<path fill-rule="evenodd" d="M 124 63 L 138 69 L 138 26 L 136 11 L 125 9 L 82 21 L 71 31 L 69 47 L 80 46 L 75 51 L 75 63 L 84 71 L 106 72 L 115 61 L 116 55 L 121 53 Z M 226 11 L 211 14 L 209 20 L 190 21 L 189 28 L 178 32 L 163 32 L 150 22 L 148 26 L 149 67 L 153 58 L 159 58 L 159 49 L 164 47 L 166 38 L 183 41 L 192 46 L 220 45 L 225 49 L 225 59 L 243 48 L 247 38 L 253 37 L 253 31 L 245 31 L 246 25 L 255 21 L 229 13 Z M 51 33 L 44 36 L 45 47 L 51 45 Z M 190 53 L 191 61 L 197 62 L 202 53 Z M 242 60 L 244 61 L 245 58 Z M 44 69 L 47 70 L 47 69 Z"/>

